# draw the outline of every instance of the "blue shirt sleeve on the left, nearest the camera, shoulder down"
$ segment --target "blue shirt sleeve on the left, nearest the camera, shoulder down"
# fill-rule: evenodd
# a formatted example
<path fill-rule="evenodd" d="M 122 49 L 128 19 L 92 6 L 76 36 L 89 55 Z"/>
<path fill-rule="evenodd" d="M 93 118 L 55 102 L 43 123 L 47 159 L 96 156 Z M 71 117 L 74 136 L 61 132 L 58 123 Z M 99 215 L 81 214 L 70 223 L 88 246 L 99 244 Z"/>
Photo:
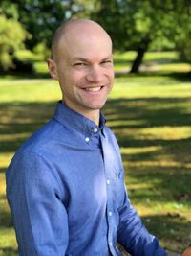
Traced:
<path fill-rule="evenodd" d="M 20 256 L 64 256 L 68 217 L 64 192 L 53 167 L 28 151 L 15 157 L 7 171 L 7 197 Z"/>

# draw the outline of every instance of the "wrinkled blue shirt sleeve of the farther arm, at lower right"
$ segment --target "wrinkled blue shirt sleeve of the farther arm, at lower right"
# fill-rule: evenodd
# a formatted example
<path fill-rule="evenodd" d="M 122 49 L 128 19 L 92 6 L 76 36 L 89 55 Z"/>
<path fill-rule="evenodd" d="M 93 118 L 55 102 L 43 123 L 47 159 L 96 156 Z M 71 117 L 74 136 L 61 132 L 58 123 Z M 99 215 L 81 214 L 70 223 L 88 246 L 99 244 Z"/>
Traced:
<path fill-rule="evenodd" d="M 123 245 L 132 256 L 167 256 L 166 252 L 159 246 L 158 239 L 150 234 L 143 225 L 137 211 L 127 197 L 125 186 L 123 192 L 124 203 L 118 209 L 117 242 Z"/>

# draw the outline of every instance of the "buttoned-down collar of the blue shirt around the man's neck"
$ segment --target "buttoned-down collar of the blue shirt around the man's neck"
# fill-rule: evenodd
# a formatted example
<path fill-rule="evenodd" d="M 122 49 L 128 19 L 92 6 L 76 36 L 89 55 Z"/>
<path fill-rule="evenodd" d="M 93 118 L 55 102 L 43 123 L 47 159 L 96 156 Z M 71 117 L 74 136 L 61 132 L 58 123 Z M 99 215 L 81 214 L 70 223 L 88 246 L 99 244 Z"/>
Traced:
<path fill-rule="evenodd" d="M 95 122 L 86 118 L 85 116 L 75 112 L 73 109 L 64 105 L 61 101 L 57 103 L 54 119 L 64 126 L 70 126 L 84 135 L 91 135 L 98 131 L 101 131 L 104 135 L 103 128 L 106 123 L 105 116 L 100 113 L 99 126 Z"/>

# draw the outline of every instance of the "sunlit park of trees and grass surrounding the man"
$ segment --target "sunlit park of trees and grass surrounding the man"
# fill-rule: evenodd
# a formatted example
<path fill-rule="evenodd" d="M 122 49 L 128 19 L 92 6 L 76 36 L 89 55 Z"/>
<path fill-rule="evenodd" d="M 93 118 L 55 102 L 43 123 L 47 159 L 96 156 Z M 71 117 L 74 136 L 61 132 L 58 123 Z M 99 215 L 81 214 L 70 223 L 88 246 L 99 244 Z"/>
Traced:
<path fill-rule="evenodd" d="M 129 197 L 160 244 L 191 244 L 191 2 L 3 0 L 0 3 L 0 256 L 16 256 L 5 171 L 61 93 L 46 58 L 71 17 L 114 41 L 116 82 L 103 112 L 117 135 Z"/>

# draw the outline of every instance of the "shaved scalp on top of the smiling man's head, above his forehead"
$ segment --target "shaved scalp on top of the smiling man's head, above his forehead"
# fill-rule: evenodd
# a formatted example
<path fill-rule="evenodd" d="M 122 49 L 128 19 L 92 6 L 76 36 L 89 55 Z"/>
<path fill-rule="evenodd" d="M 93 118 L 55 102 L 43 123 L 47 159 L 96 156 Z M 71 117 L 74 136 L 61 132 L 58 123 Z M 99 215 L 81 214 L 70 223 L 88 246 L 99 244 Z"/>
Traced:
<path fill-rule="evenodd" d="M 87 36 L 92 31 L 98 31 L 99 33 L 105 34 L 108 39 L 111 41 L 110 36 L 107 34 L 107 32 L 95 21 L 93 20 L 88 20 L 88 19 L 74 19 L 74 20 L 69 20 L 67 22 L 63 22 L 55 31 L 52 39 L 52 45 L 51 45 L 51 54 L 52 58 L 56 59 L 57 58 L 57 51 L 58 51 L 58 46 L 61 41 L 63 40 L 64 37 L 69 34 L 69 33 L 75 33 L 76 35 L 80 36 L 80 34 L 87 31 Z"/>

